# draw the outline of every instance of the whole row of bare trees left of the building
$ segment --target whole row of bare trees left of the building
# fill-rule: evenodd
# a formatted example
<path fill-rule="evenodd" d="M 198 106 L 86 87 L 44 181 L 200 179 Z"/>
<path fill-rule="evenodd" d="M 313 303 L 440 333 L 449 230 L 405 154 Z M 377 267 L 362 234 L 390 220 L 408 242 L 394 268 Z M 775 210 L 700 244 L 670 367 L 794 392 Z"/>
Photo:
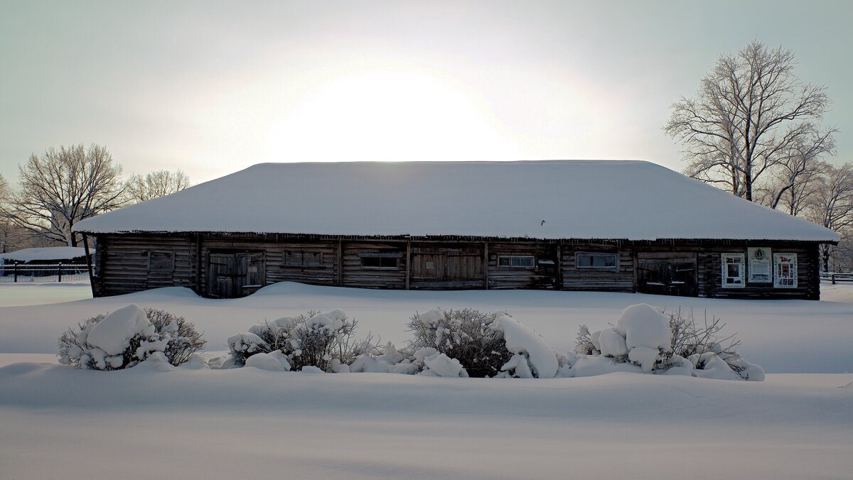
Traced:
<path fill-rule="evenodd" d="M 13 187 L 0 175 L 0 252 L 25 246 L 78 246 L 85 218 L 189 187 L 183 171 L 122 176 L 107 147 L 50 147 L 18 165 Z"/>

